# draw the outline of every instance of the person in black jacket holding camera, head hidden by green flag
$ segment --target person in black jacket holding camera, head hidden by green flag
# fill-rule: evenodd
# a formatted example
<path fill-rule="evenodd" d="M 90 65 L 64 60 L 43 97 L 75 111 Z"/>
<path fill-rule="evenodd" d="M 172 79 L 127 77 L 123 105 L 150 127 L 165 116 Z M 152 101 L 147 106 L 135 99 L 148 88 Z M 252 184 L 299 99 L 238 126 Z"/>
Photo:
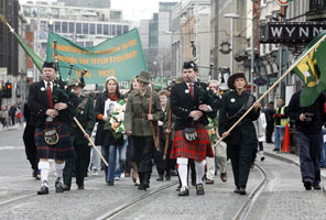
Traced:
<path fill-rule="evenodd" d="M 300 95 L 295 92 L 289 103 L 287 113 L 295 120 L 297 144 L 300 146 L 300 168 L 306 190 L 320 190 L 320 153 L 323 147 L 323 124 L 325 123 L 322 94 L 309 107 L 300 106 Z"/>

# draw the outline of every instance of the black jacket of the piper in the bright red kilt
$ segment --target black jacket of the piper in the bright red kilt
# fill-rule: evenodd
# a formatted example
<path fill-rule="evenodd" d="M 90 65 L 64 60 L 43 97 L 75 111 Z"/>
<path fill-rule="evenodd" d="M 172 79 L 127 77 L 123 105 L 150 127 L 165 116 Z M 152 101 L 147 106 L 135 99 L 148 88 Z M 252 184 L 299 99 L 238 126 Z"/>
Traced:
<path fill-rule="evenodd" d="M 217 105 L 215 105 L 213 96 L 209 96 L 207 90 L 195 85 L 193 99 L 186 82 L 176 84 L 172 87 L 170 103 L 172 113 L 176 117 L 175 131 L 192 127 L 193 118 L 188 117 L 188 114 L 193 110 L 198 110 L 202 103 L 208 105 L 213 109 L 210 112 L 203 112 L 199 119 L 202 124 L 208 124 L 207 117 L 215 118 L 217 113 Z"/>

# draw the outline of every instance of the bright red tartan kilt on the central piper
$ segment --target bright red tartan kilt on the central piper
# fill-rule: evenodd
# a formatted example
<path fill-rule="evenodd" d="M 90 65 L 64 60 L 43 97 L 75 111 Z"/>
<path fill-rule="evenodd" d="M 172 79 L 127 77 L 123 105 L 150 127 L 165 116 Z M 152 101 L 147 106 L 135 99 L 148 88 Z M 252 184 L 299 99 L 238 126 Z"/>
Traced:
<path fill-rule="evenodd" d="M 206 157 L 214 157 L 209 136 L 205 125 L 196 124 L 197 139 L 187 141 L 184 136 L 184 130 L 175 131 L 173 140 L 171 158 L 186 157 L 195 161 L 204 161 Z"/>

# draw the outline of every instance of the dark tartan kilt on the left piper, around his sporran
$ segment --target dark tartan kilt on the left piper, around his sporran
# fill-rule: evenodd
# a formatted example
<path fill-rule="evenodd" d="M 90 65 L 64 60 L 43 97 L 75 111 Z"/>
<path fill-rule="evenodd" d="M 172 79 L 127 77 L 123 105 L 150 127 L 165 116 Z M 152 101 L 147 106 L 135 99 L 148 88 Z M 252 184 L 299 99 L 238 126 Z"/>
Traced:
<path fill-rule="evenodd" d="M 57 128 L 58 142 L 55 145 L 48 145 L 44 141 L 44 130 Z M 62 122 L 45 122 L 44 125 L 35 130 L 35 143 L 40 158 L 53 158 L 66 161 L 76 157 L 73 143 L 69 136 L 69 128 Z"/>

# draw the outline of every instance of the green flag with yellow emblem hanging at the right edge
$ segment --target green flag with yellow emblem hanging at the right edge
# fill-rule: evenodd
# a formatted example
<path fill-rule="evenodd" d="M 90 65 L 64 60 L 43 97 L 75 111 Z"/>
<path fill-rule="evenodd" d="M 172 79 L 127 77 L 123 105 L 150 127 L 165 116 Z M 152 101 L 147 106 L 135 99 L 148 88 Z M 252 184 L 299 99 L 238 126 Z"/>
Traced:
<path fill-rule="evenodd" d="M 293 72 L 302 79 L 303 88 L 300 96 L 300 106 L 312 106 L 318 96 L 326 90 L 326 41 L 322 41 L 316 44 L 326 32 L 316 36 L 304 50 L 301 56 L 302 59 Z M 304 54 L 309 50 L 306 56 Z"/>

